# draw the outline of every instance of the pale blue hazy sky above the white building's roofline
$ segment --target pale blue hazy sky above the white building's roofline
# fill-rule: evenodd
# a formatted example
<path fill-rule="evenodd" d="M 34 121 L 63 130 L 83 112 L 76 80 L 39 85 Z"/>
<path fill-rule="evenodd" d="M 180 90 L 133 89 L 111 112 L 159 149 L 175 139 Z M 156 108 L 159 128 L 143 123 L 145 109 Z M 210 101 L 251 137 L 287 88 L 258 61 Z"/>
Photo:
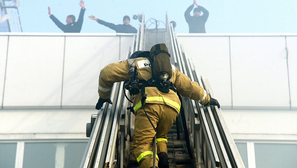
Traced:
<path fill-rule="evenodd" d="M 67 15 L 74 14 L 78 18 L 80 12 L 79 0 L 19 1 L 23 32 L 62 33 L 49 18 L 48 6 L 51 7 L 52 14 L 64 24 Z M 296 0 L 198 0 L 197 2 L 209 11 L 205 25 L 206 33 L 297 33 Z M 131 18 L 130 24 L 137 28 L 139 22 L 132 19 L 133 14 L 144 12 L 145 21 L 154 18 L 165 23 L 166 11 L 169 20 L 174 20 L 177 24 L 175 32 L 188 33 L 184 12 L 192 3 L 192 0 L 86 0 L 81 33 L 115 33 L 114 30 L 89 19 L 89 15 L 95 15 L 114 24 L 123 24 L 123 16 L 128 15 Z M 164 27 L 162 23 L 160 26 Z M 154 28 L 154 25 L 149 28 Z"/>

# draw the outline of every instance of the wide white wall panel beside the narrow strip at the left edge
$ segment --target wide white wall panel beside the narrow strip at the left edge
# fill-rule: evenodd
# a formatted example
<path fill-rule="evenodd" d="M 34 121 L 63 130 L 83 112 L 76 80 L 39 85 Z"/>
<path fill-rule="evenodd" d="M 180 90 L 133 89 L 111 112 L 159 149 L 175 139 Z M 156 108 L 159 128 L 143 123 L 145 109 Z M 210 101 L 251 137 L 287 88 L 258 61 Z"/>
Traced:
<path fill-rule="evenodd" d="M 10 36 L 3 108 L 60 106 L 63 54 L 64 37 Z"/>

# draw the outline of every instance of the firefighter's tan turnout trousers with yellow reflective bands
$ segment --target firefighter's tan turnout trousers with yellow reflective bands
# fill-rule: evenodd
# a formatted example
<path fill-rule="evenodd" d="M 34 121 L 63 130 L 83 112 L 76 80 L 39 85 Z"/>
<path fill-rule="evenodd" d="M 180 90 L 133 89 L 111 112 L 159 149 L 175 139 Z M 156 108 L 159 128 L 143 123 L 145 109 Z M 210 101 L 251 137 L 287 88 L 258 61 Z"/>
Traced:
<path fill-rule="evenodd" d="M 151 123 L 146 117 L 143 108 L 140 108 L 135 115 L 134 138 L 130 151 L 138 161 L 141 168 L 150 168 L 153 166 L 153 138 L 156 134 L 157 153 L 167 153 L 166 134 L 170 130 L 173 122 L 178 116 L 178 112 L 165 104 L 146 103 L 144 105 L 157 133 L 154 131 Z M 158 166 L 158 156 L 156 156 L 155 166 Z"/>

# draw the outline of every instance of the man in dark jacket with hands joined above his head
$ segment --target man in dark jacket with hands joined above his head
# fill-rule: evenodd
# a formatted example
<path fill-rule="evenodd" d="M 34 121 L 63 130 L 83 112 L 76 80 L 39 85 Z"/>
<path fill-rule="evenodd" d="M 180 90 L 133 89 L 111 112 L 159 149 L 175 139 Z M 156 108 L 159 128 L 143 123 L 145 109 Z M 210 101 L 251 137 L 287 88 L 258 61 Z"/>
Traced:
<path fill-rule="evenodd" d="M 194 8 L 194 5 L 196 4 L 197 8 L 193 10 L 194 16 L 190 15 L 191 10 Z M 200 16 L 201 11 L 203 12 L 203 15 Z M 206 33 L 205 31 L 205 22 L 208 18 L 208 10 L 205 8 L 199 6 L 196 2 L 196 0 L 193 1 L 193 4 L 188 7 L 186 10 L 184 16 L 189 24 L 189 33 Z"/>

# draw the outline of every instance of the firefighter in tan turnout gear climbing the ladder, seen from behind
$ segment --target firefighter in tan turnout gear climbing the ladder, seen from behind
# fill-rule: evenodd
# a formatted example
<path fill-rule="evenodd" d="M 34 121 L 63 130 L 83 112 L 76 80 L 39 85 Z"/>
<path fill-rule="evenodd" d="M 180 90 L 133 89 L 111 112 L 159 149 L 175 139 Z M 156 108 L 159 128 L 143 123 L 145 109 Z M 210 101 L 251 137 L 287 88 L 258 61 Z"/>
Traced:
<path fill-rule="evenodd" d="M 133 95 L 135 132 L 130 151 L 141 168 L 151 168 L 153 166 L 152 143 L 154 135 L 156 135 L 157 143 L 156 167 L 169 167 L 167 155 L 168 137 L 166 134 L 181 108 L 176 91 L 182 96 L 197 100 L 202 105 L 217 105 L 219 108 L 217 100 L 210 98 L 198 83 L 192 82 L 189 77 L 170 64 L 169 56 L 165 44 L 156 44 L 151 48 L 151 51 L 136 51 L 130 56 L 130 59 L 109 64 L 100 71 L 99 100 L 96 109 L 101 109 L 105 102 L 112 104 L 109 97 L 113 83 L 129 80 L 131 76 L 128 74 L 128 70 L 131 67 L 136 66 L 138 70 L 137 78 L 140 82 L 142 81 L 140 83 L 142 85 L 140 86 L 140 93 Z M 158 57 L 161 59 L 158 60 Z M 150 62 L 150 60 L 153 60 L 153 62 Z M 153 71 L 151 67 L 154 67 Z M 143 81 L 150 81 L 152 76 L 158 73 L 156 69 L 169 73 L 168 82 L 172 83 L 174 87 L 171 87 L 168 93 L 162 93 L 161 89 L 156 86 L 144 85 L 146 82 Z M 144 90 L 146 99 L 141 102 L 143 99 L 142 91 Z"/>

